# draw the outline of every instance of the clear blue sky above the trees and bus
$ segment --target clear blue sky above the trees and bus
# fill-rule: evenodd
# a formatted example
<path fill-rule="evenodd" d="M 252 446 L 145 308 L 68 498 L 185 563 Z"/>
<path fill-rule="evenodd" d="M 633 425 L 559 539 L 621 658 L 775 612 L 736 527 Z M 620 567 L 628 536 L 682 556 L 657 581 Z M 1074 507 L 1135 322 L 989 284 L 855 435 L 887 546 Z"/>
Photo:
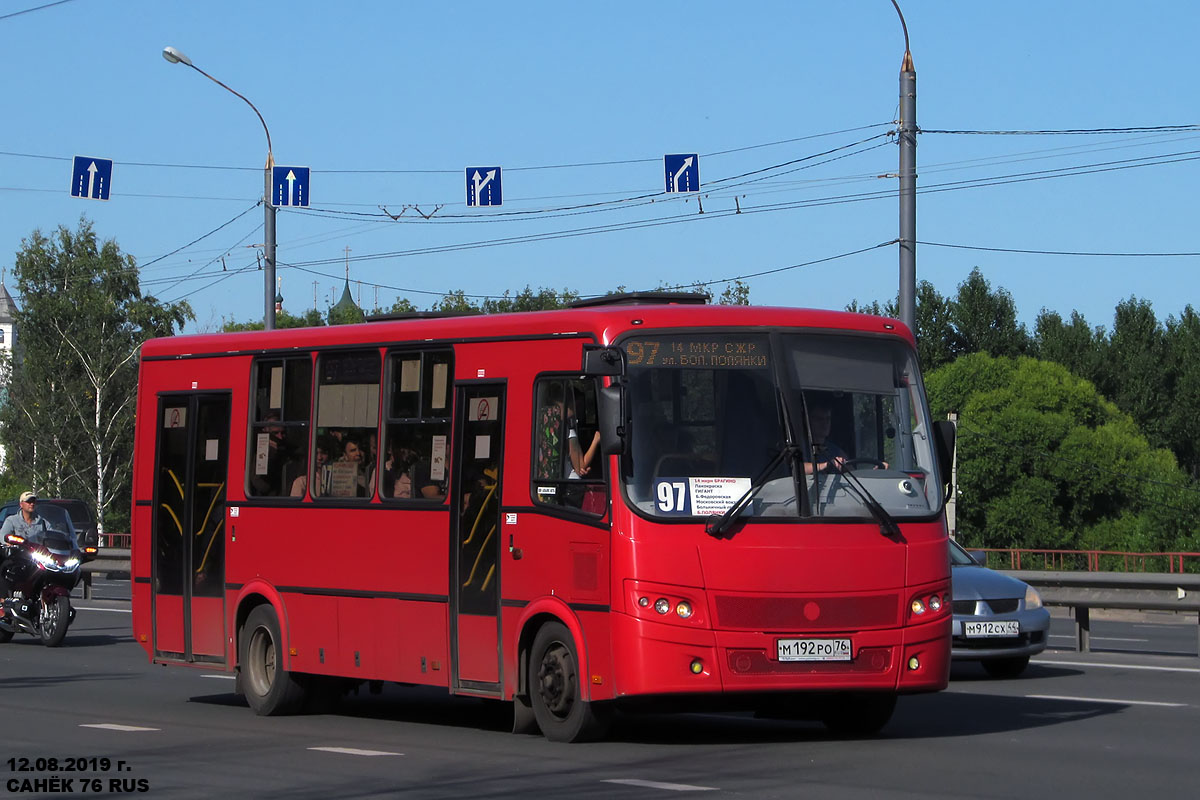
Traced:
<path fill-rule="evenodd" d="M 262 317 L 263 128 L 238 97 L 164 61 L 170 44 L 258 107 L 276 163 L 312 169 L 311 209 L 278 213 L 292 312 L 336 300 L 347 258 L 367 307 L 526 285 L 599 294 L 702 281 L 719 294 L 720 281 L 762 272 L 745 278 L 756 305 L 895 295 L 899 255 L 884 242 L 898 235 L 888 132 L 904 35 L 888 0 L 38 8 L 49 1 L 0 2 L 10 290 L 24 237 L 86 215 L 137 259 L 146 293 L 193 305 L 188 330 Z M 934 133 L 1196 124 L 1200 5 L 901 8 L 925 131 L 919 241 L 1200 251 L 1200 130 Z M 701 154 L 698 201 L 662 194 L 662 156 L 683 152 Z M 108 201 L 70 197 L 76 155 L 115 162 Z M 466 207 L 472 166 L 503 167 L 502 207 Z M 1027 324 L 1050 308 L 1111 325 L 1129 296 L 1160 319 L 1178 314 L 1196 302 L 1198 264 L 917 251 L 918 279 L 953 294 L 978 266 Z"/>

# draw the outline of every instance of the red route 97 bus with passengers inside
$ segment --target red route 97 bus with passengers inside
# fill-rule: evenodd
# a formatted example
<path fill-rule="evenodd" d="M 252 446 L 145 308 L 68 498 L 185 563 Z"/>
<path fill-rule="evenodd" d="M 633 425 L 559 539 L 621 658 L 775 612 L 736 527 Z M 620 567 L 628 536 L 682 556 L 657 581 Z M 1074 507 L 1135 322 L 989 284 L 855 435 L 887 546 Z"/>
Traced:
<path fill-rule="evenodd" d="M 395 681 L 559 741 L 864 734 L 947 685 L 953 438 L 895 320 L 635 293 L 155 339 L 136 437 L 134 637 L 258 714 Z"/>

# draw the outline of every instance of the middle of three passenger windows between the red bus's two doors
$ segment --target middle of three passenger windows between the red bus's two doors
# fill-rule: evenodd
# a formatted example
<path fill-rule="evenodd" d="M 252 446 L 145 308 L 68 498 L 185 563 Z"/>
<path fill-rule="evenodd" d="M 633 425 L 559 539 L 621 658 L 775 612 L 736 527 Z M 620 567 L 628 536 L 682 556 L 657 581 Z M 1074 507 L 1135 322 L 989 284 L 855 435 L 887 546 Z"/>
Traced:
<path fill-rule="evenodd" d="M 370 498 L 379 450 L 379 351 L 317 360 L 317 438 L 332 452 L 310 482 L 314 498 Z"/>

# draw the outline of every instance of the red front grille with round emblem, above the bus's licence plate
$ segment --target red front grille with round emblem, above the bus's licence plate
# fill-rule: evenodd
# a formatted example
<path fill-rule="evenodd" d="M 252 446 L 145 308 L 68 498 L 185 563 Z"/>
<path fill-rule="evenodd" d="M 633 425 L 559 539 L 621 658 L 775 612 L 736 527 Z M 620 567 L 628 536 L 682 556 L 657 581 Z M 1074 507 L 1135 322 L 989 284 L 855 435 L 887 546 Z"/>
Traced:
<path fill-rule="evenodd" d="M 899 595 L 850 597 L 746 597 L 716 595 L 716 620 L 725 630 L 847 631 L 894 627 Z"/>

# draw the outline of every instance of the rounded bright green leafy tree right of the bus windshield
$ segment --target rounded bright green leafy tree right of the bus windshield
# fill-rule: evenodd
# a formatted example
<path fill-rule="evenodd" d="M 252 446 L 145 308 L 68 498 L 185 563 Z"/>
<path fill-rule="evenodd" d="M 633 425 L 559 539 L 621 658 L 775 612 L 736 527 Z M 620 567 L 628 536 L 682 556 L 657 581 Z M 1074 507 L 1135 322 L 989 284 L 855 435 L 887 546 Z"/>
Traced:
<path fill-rule="evenodd" d="M 959 414 L 958 528 L 984 547 L 1162 552 L 1194 546 L 1200 493 L 1166 450 L 1066 367 L 962 356 L 926 377 Z"/>

